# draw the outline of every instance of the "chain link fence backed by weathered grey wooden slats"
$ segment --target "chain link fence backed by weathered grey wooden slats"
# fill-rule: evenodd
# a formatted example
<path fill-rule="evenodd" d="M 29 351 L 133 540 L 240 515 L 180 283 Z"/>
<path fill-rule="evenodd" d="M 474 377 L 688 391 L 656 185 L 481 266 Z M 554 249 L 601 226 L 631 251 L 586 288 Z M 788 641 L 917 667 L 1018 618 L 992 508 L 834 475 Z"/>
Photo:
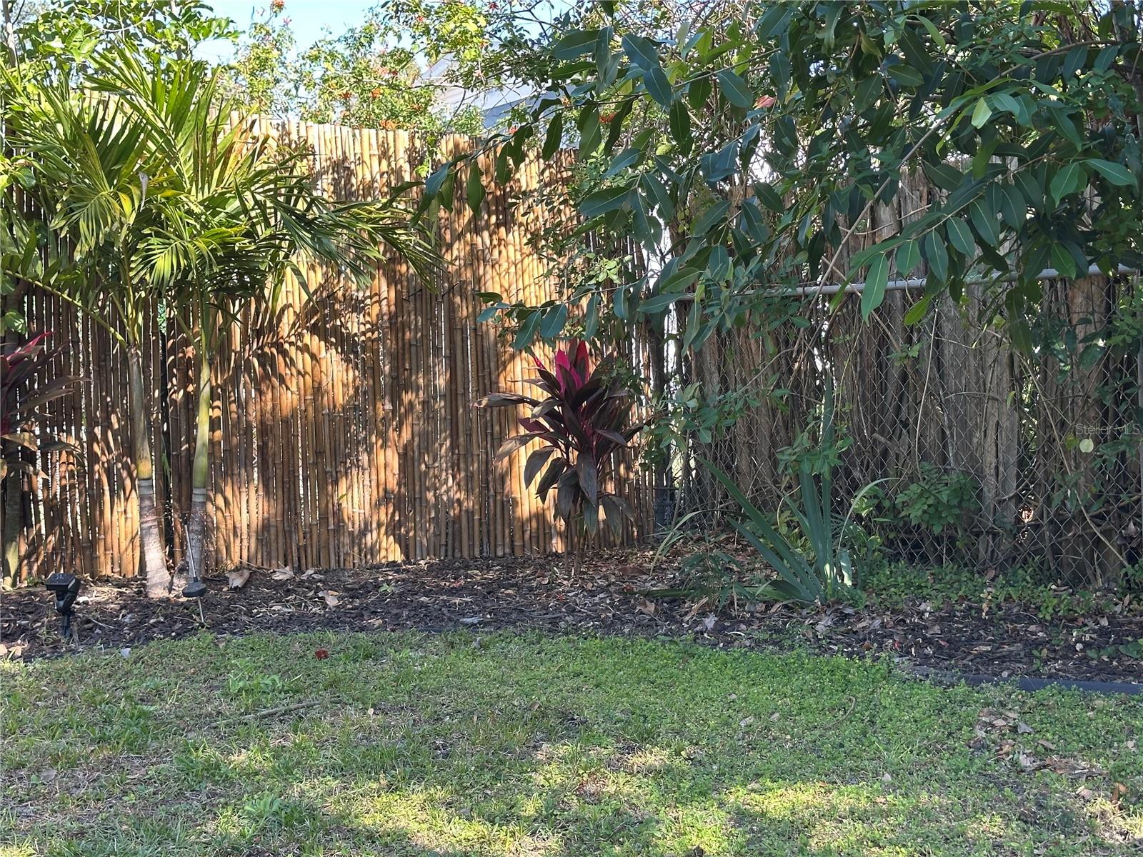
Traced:
<path fill-rule="evenodd" d="M 918 290 L 890 293 L 868 321 L 856 296 L 833 312 L 808 298 L 800 326 L 744 329 L 681 355 L 672 383 L 698 382 L 708 400 L 737 413 L 710 442 L 678 450 L 661 507 L 665 499 L 677 520 L 732 511 L 701 456 L 777 508 L 797 490 L 796 463 L 810 456 L 830 466 L 836 514 L 852 508 L 855 531 L 890 561 L 1137 584 L 1138 283 L 1042 285 L 1031 354 L 1014 351 L 977 288 L 912 325 Z M 822 448 L 830 385 L 837 438 Z"/>

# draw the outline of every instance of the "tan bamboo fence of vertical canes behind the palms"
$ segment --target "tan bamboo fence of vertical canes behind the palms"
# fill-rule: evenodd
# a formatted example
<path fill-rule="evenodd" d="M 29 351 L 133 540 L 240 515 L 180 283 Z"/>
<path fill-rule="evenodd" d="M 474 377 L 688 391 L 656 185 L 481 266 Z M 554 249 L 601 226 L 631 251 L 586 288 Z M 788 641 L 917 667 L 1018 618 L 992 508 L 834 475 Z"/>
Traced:
<path fill-rule="evenodd" d="M 327 192 L 387 197 L 415 177 L 424 146 L 401 131 L 311 123 L 263 131 L 312 150 Z M 445 158 L 472 141 L 449 137 Z M 310 266 L 275 307 L 248 307 L 221 346 L 210 446 L 208 560 L 221 568 L 349 567 L 394 560 L 520 555 L 559 551 L 551 503 L 523 486 L 534 447 L 494 462 L 519 430 L 507 409 L 474 409 L 496 390 L 520 390 L 533 373 L 490 325 L 478 325 L 477 293 L 534 304 L 557 299 L 531 241 L 573 213 L 529 201 L 562 181 L 566 162 L 531 161 L 509 186 L 491 182 L 473 214 L 463 187 L 439 218 L 445 264 L 438 282 L 399 259 L 377 265 L 367 288 Z M 458 183 L 462 184 L 462 183 Z M 82 376 L 48 407 L 47 428 L 77 455 L 42 456 L 24 492 L 22 576 L 66 570 L 130 577 L 139 566 L 135 474 L 129 464 L 126 355 L 106 331 L 42 293 L 24 297 L 29 329 L 66 345 L 59 374 Z M 152 314 L 145 355 L 165 538 L 182 554 L 191 503 L 193 351 L 174 319 Z M 539 353 L 541 358 L 550 357 Z M 650 526 L 649 479 L 628 463 L 618 491 Z M 553 499 L 553 498 L 550 498 Z"/>

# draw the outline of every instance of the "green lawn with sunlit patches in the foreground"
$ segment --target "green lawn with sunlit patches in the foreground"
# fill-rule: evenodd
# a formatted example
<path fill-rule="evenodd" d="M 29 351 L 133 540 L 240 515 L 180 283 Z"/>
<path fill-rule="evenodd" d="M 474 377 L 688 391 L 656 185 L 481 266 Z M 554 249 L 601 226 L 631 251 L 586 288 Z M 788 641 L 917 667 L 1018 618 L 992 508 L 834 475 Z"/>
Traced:
<path fill-rule="evenodd" d="M 1126 855 L 1143 836 L 1143 702 L 880 663 L 203 635 L 5 663 L 0 688 L 6 856 Z"/>

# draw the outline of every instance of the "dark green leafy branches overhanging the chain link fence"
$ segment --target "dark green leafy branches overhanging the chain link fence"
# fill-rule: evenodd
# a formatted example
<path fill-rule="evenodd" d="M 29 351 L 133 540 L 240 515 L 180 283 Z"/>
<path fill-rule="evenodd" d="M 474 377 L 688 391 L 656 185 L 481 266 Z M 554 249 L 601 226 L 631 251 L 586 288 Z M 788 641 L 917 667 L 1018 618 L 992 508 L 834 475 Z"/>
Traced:
<path fill-rule="evenodd" d="M 582 232 L 634 235 L 650 262 L 578 299 L 623 325 L 661 325 L 686 297 L 674 311 L 698 347 L 775 294 L 842 279 L 864 280 L 868 315 L 924 263 L 909 322 L 981 281 L 1028 349 L 1041 270 L 1141 262 L 1140 23 L 1133 3 L 713 3 L 648 18 L 600 2 L 537 67 L 551 95 L 487 149 L 507 173 L 570 138 L 598 165 L 575 200 Z M 442 167 L 430 197 L 466 170 Z M 928 208 L 839 273 L 846 239 L 913 170 L 937 189 Z"/>

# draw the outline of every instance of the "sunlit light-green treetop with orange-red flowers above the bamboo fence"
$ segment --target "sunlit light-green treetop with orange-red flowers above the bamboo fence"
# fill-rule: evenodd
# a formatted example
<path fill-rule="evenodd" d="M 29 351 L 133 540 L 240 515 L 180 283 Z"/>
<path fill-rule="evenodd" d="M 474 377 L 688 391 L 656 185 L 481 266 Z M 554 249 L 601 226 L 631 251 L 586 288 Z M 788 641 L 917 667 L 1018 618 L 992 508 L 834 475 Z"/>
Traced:
<path fill-rule="evenodd" d="M 313 122 L 480 134 L 477 103 L 520 58 L 511 2 L 385 0 L 360 24 L 298 46 L 289 7 L 253 18 L 229 70 L 250 110 Z"/>

